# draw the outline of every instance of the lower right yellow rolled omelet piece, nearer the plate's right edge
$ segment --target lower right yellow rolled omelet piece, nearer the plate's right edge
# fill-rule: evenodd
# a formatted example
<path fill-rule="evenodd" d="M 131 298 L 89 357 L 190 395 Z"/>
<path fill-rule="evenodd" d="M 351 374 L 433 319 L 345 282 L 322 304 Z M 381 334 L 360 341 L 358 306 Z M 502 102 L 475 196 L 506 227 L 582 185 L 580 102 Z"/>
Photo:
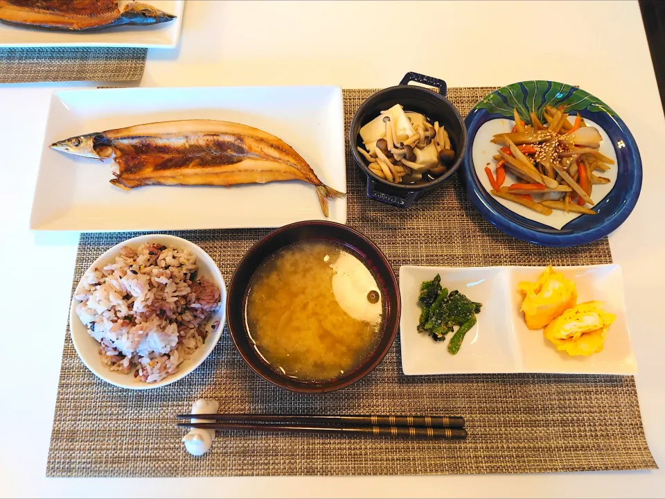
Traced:
<path fill-rule="evenodd" d="M 557 350 L 571 356 L 590 356 L 603 351 L 605 338 L 617 316 L 605 312 L 602 301 L 586 301 L 569 308 L 544 329 Z"/>

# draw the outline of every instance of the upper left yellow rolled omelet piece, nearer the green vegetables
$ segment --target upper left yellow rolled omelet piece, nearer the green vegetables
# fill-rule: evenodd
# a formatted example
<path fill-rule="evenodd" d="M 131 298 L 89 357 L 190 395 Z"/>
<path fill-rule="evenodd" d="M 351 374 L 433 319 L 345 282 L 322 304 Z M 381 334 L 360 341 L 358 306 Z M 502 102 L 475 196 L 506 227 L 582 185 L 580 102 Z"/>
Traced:
<path fill-rule="evenodd" d="M 551 265 L 535 283 L 521 282 L 520 292 L 524 296 L 522 312 L 529 329 L 544 328 L 577 302 L 575 283 L 554 272 Z"/>

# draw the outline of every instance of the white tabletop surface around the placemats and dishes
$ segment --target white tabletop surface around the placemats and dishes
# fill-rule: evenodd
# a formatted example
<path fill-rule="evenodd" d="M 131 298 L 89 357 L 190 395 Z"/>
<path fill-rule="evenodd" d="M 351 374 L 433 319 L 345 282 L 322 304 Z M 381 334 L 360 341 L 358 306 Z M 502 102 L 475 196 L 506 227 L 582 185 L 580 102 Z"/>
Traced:
<path fill-rule="evenodd" d="M 414 20 L 405 24 L 405 37 L 393 41 L 387 56 L 387 26 L 407 18 L 406 12 Z M 558 28 L 562 42 L 557 46 L 545 36 L 534 42 L 533 30 L 522 31 L 523 46 L 511 62 L 506 54 L 514 42 L 499 28 L 510 26 L 511 18 L 520 28 L 543 26 L 553 18 L 578 22 Z M 414 49 L 418 33 L 435 51 Z M 644 164 L 644 185 L 635 211 L 610 236 L 610 246 L 614 261 L 623 266 L 646 437 L 656 461 L 665 466 L 665 334 L 659 317 L 665 298 L 665 119 L 637 1 L 188 0 L 179 48 L 150 50 L 141 85 L 368 88 L 395 85 L 407 71 L 443 78 L 450 87 L 529 79 L 569 82 L 603 99 L 632 130 Z M 0 87 L 0 240 L 7 255 L 0 335 L 18 338 L 21 345 L 6 351 L 0 377 L 0 496 L 663 496 L 663 470 L 386 478 L 44 478 L 78 235 L 30 233 L 28 216 L 49 96 L 54 89 L 86 86 L 91 84 Z M 38 297 L 33 290 L 44 285 L 48 292 Z"/>

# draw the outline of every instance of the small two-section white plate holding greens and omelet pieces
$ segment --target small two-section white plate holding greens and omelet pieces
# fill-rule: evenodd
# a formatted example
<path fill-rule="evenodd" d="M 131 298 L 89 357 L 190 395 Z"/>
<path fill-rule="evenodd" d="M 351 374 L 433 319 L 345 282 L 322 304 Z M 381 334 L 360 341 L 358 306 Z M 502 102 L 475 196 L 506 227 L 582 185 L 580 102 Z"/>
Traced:
<path fill-rule="evenodd" d="M 400 267 L 400 342 L 402 371 L 407 375 L 560 373 L 635 374 L 637 363 L 630 343 L 619 265 L 556 267 L 572 279 L 578 303 L 598 300 L 617 316 L 605 340 L 605 348 L 589 357 L 569 356 L 545 340 L 542 330 L 526 328 L 520 311 L 520 281 L 536 281 L 544 267 Z M 459 290 L 483 304 L 478 323 L 465 335 L 456 355 L 447 351 L 452 334 L 434 342 L 418 333 L 418 294 L 423 281 L 441 275 L 441 286 Z"/>

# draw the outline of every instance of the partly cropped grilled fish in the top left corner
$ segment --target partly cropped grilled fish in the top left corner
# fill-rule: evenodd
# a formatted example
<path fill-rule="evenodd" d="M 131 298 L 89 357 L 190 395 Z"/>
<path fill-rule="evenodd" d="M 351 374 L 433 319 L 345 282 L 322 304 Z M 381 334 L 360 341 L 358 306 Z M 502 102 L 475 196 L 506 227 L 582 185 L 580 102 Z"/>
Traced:
<path fill-rule="evenodd" d="M 173 19 L 140 2 L 127 4 L 121 12 L 117 0 L 0 0 L 0 22 L 28 28 L 90 31 Z"/>

